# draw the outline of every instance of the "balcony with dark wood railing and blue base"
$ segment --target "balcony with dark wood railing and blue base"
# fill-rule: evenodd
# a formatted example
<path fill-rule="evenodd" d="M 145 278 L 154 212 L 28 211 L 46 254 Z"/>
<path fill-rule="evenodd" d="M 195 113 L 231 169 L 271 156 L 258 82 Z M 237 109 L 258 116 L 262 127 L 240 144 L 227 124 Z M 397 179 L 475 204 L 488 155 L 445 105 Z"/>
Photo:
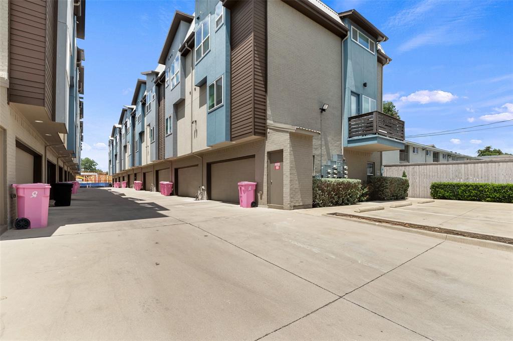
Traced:
<path fill-rule="evenodd" d="M 379 111 L 348 118 L 346 147 L 363 152 L 383 152 L 404 148 L 404 121 Z"/>

